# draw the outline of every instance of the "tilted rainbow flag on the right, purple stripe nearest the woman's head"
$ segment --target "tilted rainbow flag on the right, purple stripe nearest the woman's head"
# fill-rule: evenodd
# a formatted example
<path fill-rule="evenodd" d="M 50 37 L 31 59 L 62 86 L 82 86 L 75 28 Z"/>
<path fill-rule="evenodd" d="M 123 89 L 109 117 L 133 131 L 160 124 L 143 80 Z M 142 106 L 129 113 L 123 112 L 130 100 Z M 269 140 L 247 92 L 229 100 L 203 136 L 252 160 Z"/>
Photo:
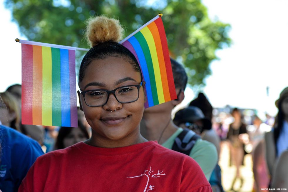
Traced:
<path fill-rule="evenodd" d="M 135 55 L 145 84 L 145 108 L 177 98 L 162 14 L 140 27 L 120 44 Z"/>

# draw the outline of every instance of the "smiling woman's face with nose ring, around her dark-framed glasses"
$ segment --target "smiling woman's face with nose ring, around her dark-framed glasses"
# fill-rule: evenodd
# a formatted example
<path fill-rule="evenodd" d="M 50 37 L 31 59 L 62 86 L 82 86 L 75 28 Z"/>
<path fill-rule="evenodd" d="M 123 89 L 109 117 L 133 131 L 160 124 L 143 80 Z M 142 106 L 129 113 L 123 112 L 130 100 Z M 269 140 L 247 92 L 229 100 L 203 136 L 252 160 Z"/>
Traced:
<path fill-rule="evenodd" d="M 79 85 L 82 91 L 114 90 L 121 86 L 138 85 L 140 82 L 140 72 L 136 72 L 130 63 L 123 58 L 108 57 L 93 60 Z M 108 102 L 101 107 L 89 107 L 83 95 L 80 95 L 79 100 L 86 120 L 93 129 L 94 138 L 116 141 L 131 135 L 138 137 L 144 110 L 143 87 L 140 87 L 138 100 L 131 103 L 121 104 L 113 94 L 108 95 Z"/>

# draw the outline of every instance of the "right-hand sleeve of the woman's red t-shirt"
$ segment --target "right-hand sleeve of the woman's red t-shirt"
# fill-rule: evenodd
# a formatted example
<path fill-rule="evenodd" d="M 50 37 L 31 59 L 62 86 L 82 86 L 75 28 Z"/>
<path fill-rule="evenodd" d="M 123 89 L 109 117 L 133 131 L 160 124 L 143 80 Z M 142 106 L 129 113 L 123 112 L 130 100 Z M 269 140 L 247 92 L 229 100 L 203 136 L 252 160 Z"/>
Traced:
<path fill-rule="evenodd" d="M 180 192 L 212 192 L 200 166 L 195 160 L 188 158 L 183 164 Z"/>

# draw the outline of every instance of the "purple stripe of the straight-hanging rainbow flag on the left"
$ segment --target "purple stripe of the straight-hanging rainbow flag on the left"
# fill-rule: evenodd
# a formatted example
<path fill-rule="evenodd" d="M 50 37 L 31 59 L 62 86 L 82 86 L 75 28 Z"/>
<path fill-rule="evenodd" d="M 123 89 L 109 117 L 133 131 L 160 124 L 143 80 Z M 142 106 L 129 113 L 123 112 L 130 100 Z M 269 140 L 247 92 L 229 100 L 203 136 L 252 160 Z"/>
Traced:
<path fill-rule="evenodd" d="M 69 50 L 69 78 L 70 78 L 70 121 L 71 127 L 78 127 L 75 50 Z"/>

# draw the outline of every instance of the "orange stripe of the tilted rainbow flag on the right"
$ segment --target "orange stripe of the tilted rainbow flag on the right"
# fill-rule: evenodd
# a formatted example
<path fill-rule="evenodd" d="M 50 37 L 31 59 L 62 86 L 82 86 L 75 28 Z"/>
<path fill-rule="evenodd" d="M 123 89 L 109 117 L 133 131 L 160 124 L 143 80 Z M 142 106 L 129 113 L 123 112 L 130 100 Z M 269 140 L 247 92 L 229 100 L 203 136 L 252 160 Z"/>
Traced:
<path fill-rule="evenodd" d="M 159 31 L 158 31 L 158 28 L 157 28 L 155 22 L 150 23 L 147 27 L 149 28 L 149 30 L 151 31 L 151 33 L 153 35 L 155 46 L 156 46 L 159 68 L 160 68 L 160 74 L 161 74 L 161 80 L 162 80 L 163 93 L 164 93 L 164 100 L 165 100 L 165 102 L 171 101 L 169 86 L 168 86 L 168 80 L 167 80 L 167 74 L 166 74 L 165 61 L 164 61 L 164 56 L 163 56 L 163 49 L 162 49 Z"/>

